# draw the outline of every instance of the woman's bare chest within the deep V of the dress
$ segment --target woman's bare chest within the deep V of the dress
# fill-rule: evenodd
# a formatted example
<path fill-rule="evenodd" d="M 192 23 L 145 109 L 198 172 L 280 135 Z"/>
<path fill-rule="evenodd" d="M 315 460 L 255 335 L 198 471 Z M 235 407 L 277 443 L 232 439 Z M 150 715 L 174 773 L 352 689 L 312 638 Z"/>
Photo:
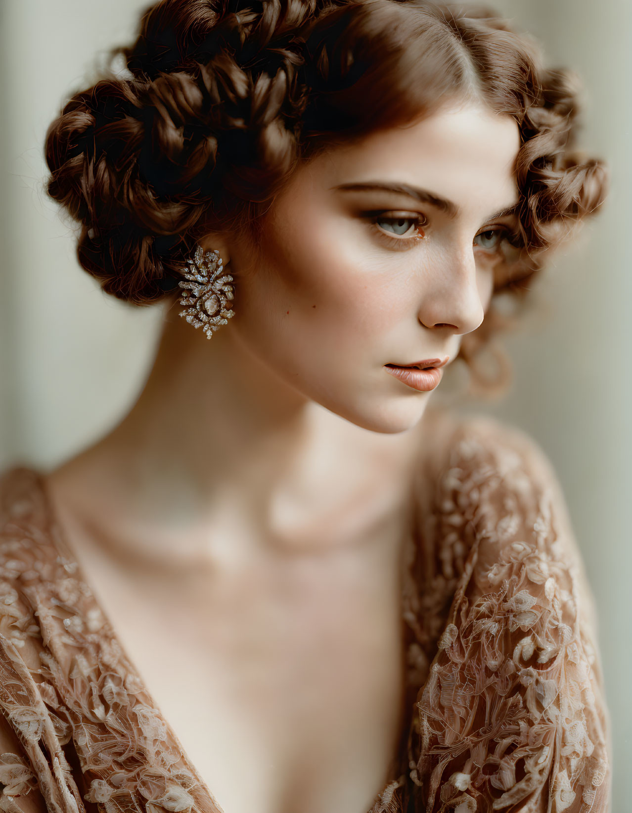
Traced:
<path fill-rule="evenodd" d="M 119 641 L 223 813 L 366 813 L 383 789 L 403 692 L 392 542 L 222 580 L 138 580 L 87 562 Z"/>

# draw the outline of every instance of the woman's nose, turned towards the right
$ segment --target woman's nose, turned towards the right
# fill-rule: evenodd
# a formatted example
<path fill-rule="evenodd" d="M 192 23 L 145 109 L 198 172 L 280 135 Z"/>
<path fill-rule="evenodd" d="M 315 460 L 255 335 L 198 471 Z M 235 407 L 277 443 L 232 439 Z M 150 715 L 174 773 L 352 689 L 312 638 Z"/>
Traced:
<path fill-rule="evenodd" d="M 479 276 L 471 244 L 441 251 L 423 274 L 418 319 L 424 327 L 451 328 L 459 335 L 476 330 L 487 299 Z"/>

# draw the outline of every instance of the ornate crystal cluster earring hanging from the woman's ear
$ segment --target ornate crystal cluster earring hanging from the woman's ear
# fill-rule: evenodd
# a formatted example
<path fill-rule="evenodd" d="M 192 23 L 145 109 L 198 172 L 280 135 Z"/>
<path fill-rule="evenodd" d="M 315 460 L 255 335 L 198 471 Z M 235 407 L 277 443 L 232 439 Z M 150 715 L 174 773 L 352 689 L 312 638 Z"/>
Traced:
<path fill-rule="evenodd" d="M 201 246 L 197 246 L 194 258 L 188 259 L 187 265 L 190 271 L 182 274 L 188 281 L 178 283 L 185 289 L 180 299 L 180 305 L 184 305 L 180 316 L 195 328 L 203 328 L 206 338 L 210 339 L 220 324 L 227 324 L 235 315 L 226 307 L 227 300 L 233 298 L 233 287 L 229 285 L 232 276 L 223 273 L 217 251 L 202 251 Z"/>

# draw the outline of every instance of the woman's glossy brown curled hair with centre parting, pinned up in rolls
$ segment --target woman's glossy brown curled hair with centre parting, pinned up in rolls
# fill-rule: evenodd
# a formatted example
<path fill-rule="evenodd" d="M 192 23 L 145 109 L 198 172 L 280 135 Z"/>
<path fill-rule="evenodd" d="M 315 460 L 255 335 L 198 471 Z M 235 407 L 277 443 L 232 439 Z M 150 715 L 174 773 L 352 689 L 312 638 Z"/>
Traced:
<path fill-rule="evenodd" d="M 520 246 L 496 292 L 517 301 L 545 250 L 599 207 L 605 170 L 574 151 L 574 76 L 487 10 L 426 0 L 162 0 L 108 76 L 76 93 L 45 142 L 48 192 L 80 224 L 80 264 L 139 305 L 177 290 L 210 231 L 257 230 L 299 163 L 428 115 L 448 99 L 512 115 Z M 123 57 L 124 76 L 113 66 Z M 366 99 L 370 98 L 370 104 Z M 512 320 L 494 300 L 463 338 Z"/>

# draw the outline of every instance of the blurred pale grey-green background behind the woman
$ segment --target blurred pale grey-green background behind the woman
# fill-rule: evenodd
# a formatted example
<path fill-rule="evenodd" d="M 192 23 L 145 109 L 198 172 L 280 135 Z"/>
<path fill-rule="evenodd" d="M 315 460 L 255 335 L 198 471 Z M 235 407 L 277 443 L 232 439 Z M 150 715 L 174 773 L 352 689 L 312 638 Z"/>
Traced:
<path fill-rule="evenodd" d="M 587 89 L 582 144 L 613 168 L 600 219 L 548 268 L 535 286 L 541 307 L 506 340 L 511 393 L 465 408 L 526 429 L 558 472 L 600 613 L 613 811 L 623 813 L 632 762 L 632 3 L 490 4 L 539 37 L 550 63 L 578 69 Z M 159 309 L 106 298 L 80 271 L 68 224 L 45 197 L 42 150 L 47 125 L 89 79 L 97 52 L 130 40 L 144 7 L 138 0 L 0 5 L 0 469 L 50 467 L 100 436 L 130 405 L 152 359 Z"/>

